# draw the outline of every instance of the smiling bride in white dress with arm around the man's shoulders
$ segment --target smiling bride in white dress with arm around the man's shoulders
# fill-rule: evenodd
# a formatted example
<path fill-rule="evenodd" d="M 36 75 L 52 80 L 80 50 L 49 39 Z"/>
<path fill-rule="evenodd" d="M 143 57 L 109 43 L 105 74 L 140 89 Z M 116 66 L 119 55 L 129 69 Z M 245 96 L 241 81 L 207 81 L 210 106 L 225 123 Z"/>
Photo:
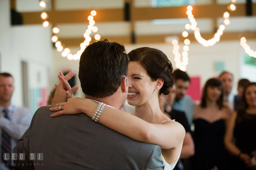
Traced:
<path fill-rule="evenodd" d="M 169 94 L 173 86 L 173 66 L 162 51 L 154 48 L 137 48 L 128 55 L 127 101 L 135 106 L 135 114 L 105 107 L 98 122 L 132 139 L 159 145 L 165 170 L 173 169 L 181 153 L 185 130 L 161 112 L 158 102 L 158 97 Z M 62 76 L 58 77 L 68 84 Z M 76 97 L 57 106 L 50 108 L 57 111 L 52 117 L 78 113 L 93 117 L 98 103 Z"/>

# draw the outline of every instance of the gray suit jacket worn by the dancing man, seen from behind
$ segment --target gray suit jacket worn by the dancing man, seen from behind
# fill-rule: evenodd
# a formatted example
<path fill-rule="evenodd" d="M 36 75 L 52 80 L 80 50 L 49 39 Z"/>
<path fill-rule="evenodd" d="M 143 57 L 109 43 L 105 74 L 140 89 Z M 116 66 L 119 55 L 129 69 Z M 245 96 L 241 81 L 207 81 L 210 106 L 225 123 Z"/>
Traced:
<path fill-rule="evenodd" d="M 86 114 L 52 118 L 40 107 L 13 153 L 25 153 L 19 169 L 164 169 L 158 145 L 138 142 L 91 120 Z M 29 160 L 43 153 L 43 160 Z"/>

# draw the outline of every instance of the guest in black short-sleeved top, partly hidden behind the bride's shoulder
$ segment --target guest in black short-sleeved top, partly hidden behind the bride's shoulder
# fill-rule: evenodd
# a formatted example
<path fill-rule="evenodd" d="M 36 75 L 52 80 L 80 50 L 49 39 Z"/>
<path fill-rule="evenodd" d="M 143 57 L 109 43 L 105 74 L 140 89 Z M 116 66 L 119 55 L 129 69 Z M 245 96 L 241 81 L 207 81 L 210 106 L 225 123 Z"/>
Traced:
<path fill-rule="evenodd" d="M 195 146 L 191 136 L 189 124 L 187 123 L 187 118 L 185 113 L 182 111 L 175 110 L 171 106 L 175 100 L 175 97 L 176 97 L 176 87 L 175 85 L 173 85 L 173 88 L 170 89 L 169 94 L 167 94 L 166 96 L 161 96 L 161 98 L 159 99 L 159 106 L 161 111 L 165 113 L 167 117 L 169 117 L 170 119 L 175 119 L 175 121 L 181 123 L 181 125 L 185 128 L 186 134 L 185 134 L 181 155 L 180 155 L 180 158 L 182 160 L 180 159 L 177 165 L 175 166 L 175 168 L 173 169 L 173 170 L 182 170 L 184 169 L 184 165 L 183 165 L 184 159 L 194 155 Z M 167 110 L 165 110 L 165 105 L 164 105 L 166 102 L 166 98 L 168 103 L 168 112 Z"/>

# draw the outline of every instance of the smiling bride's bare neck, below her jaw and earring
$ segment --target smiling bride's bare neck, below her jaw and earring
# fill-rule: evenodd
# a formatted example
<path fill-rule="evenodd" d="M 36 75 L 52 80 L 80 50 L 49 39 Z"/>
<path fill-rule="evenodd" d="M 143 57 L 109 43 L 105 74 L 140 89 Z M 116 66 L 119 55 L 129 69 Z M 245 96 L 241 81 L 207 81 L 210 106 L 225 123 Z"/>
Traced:
<path fill-rule="evenodd" d="M 162 112 L 159 107 L 158 98 L 147 101 L 140 106 L 135 106 L 135 116 L 146 122 L 153 123 L 161 114 Z"/>

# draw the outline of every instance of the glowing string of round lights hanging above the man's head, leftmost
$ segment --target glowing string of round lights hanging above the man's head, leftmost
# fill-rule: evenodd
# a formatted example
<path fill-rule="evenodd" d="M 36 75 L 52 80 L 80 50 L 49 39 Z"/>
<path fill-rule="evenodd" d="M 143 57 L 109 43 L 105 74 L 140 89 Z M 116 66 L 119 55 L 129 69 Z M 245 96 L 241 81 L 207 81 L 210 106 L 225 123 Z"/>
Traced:
<path fill-rule="evenodd" d="M 42 7 L 42 9 L 46 8 L 46 3 L 44 1 L 40 1 L 39 5 Z M 96 11 L 93 10 L 91 11 L 91 15 L 88 16 L 87 18 L 89 20 L 88 29 L 83 34 L 85 41 L 80 44 L 80 47 L 81 47 L 80 50 L 74 54 L 71 53 L 69 48 L 64 48 L 65 45 L 61 42 L 61 40 L 59 40 L 59 37 L 58 37 L 59 28 L 53 27 L 52 32 L 54 35 L 52 36 L 52 41 L 55 43 L 55 47 L 57 48 L 57 51 L 62 52 L 61 53 L 62 57 L 67 57 L 69 60 L 80 59 L 82 52 L 85 50 L 86 46 L 90 44 L 90 41 L 91 41 L 90 34 L 92 32 L 98 31 L 98 27 L 94 26 L 95 21 L 93 20 L 93 16 L 95 16 L 96 14 L 97 14 Z M 49 26 L 49 21 L 47 20 L 49 16 L 45 11 L 41 13 L 40 17 L 43 20 L 43 26 L 44 27 Z M 94 39 L 99 40 L 101 39 L 101 36 L 99 34 L 96 34 L 94 36 Z"/>

